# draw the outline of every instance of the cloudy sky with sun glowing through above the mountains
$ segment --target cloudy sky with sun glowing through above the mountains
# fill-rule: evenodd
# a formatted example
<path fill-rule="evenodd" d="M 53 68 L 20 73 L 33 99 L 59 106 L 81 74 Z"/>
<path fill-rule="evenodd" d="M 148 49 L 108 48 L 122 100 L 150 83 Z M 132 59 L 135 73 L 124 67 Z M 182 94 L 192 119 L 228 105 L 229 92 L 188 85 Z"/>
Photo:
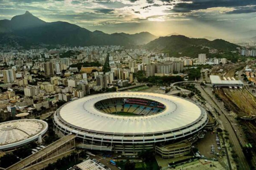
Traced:
<path fill-rule="evenodd" d="M 0 0 L 0 19 L 25 11 L 105 33 L 256 36 L 256 0 Z"/>

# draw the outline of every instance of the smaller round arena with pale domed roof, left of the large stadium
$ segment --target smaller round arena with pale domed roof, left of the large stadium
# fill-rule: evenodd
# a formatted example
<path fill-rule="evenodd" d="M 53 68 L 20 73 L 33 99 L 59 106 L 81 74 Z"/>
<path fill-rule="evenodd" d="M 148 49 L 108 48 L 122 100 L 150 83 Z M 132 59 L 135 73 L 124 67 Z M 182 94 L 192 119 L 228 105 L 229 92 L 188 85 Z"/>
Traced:
<path fill-rule="evenodd" d="M 37 140 L 47 130 L 48 124 L 38 119 L 20 119 L 0 123 L 0 150 L 13 149 Z"/>

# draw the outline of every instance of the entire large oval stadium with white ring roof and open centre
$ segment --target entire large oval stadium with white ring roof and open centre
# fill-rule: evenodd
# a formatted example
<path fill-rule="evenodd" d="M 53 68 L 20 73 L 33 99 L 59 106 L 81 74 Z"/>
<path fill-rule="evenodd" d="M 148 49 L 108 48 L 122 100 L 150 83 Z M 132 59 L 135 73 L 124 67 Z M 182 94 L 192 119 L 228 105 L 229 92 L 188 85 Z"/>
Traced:
<path fill-rule="evenodd" d="M 190 152 L 208 115 L 176 96 L 111 92 L 68 102 L 53 121 L 57 135 L 76 134 L 81 148 L 134 154 L 155 149 L 162 157 L 175 157 Z"/>

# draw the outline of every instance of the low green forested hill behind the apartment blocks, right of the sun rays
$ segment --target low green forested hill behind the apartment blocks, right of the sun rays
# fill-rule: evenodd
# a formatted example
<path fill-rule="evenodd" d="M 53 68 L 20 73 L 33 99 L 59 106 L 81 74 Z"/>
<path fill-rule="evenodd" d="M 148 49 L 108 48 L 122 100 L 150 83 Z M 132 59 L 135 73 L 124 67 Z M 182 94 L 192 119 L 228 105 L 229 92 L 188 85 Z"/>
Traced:
<path fill-rule="evenodd" d="M 166 51 L 171 55 L 182 53 L 183 56 L 196 57 L 199 53 L 208 53 L 209 49 L 235 51 L 240 46 L 223 39 L 210 41 L 204 38 L 188 38 L 184 35 L 172 35 L 169 37 L 159 37 L 146 44 L 145 47 L 147 49 Z"/>

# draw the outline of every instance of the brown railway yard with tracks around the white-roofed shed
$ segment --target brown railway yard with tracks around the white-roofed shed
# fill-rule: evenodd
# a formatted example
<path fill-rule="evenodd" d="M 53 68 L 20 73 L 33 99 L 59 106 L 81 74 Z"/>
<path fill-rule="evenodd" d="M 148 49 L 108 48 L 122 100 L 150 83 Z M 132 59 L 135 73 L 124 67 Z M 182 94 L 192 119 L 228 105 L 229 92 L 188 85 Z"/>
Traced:
<path fill-rule="evenodd" d="M 247 63 L 251 66 L 252 63 Z M 213 68 L 210 74 L 219 75 L 223 80 L 241 80 L 244 82 L 243 88 L 234 87 L 215 87 L 212 89 L 214 97 L 218 99 L 220 103 L 223 103 L 223 109 L 230 116 L 231 124 L 235 125 L 237 128 L 235 133 L 240 140 L 241 148 L 244 148 L 246 143 L 251 143 L 253 146 L 253 151 L 255 151 L 256 144 L 256 122 L 255 122 L 255 110 L 256 110 L 256 98 L 248 90 L 248 82 L 246 82 L 241 76 L 245 74 L 245 63 L 240 64 L 230 64 L 222 67 Z M 232 117 L 232 118 L 231 118 Z M 250 118 L 250 120 L 244 120 L 241 118 Z M 226 122 L 227 123 L 227 122 Z M 238 133 L 241 130 L 241 133 Z M 245 155 L 247 156 L 247 155 Z M 251 166 L 255 167 L 255 153 L 252 155 L 252 160 L 249 163 Z M 248 160 L 248 159 L 247 159 Z"/>

